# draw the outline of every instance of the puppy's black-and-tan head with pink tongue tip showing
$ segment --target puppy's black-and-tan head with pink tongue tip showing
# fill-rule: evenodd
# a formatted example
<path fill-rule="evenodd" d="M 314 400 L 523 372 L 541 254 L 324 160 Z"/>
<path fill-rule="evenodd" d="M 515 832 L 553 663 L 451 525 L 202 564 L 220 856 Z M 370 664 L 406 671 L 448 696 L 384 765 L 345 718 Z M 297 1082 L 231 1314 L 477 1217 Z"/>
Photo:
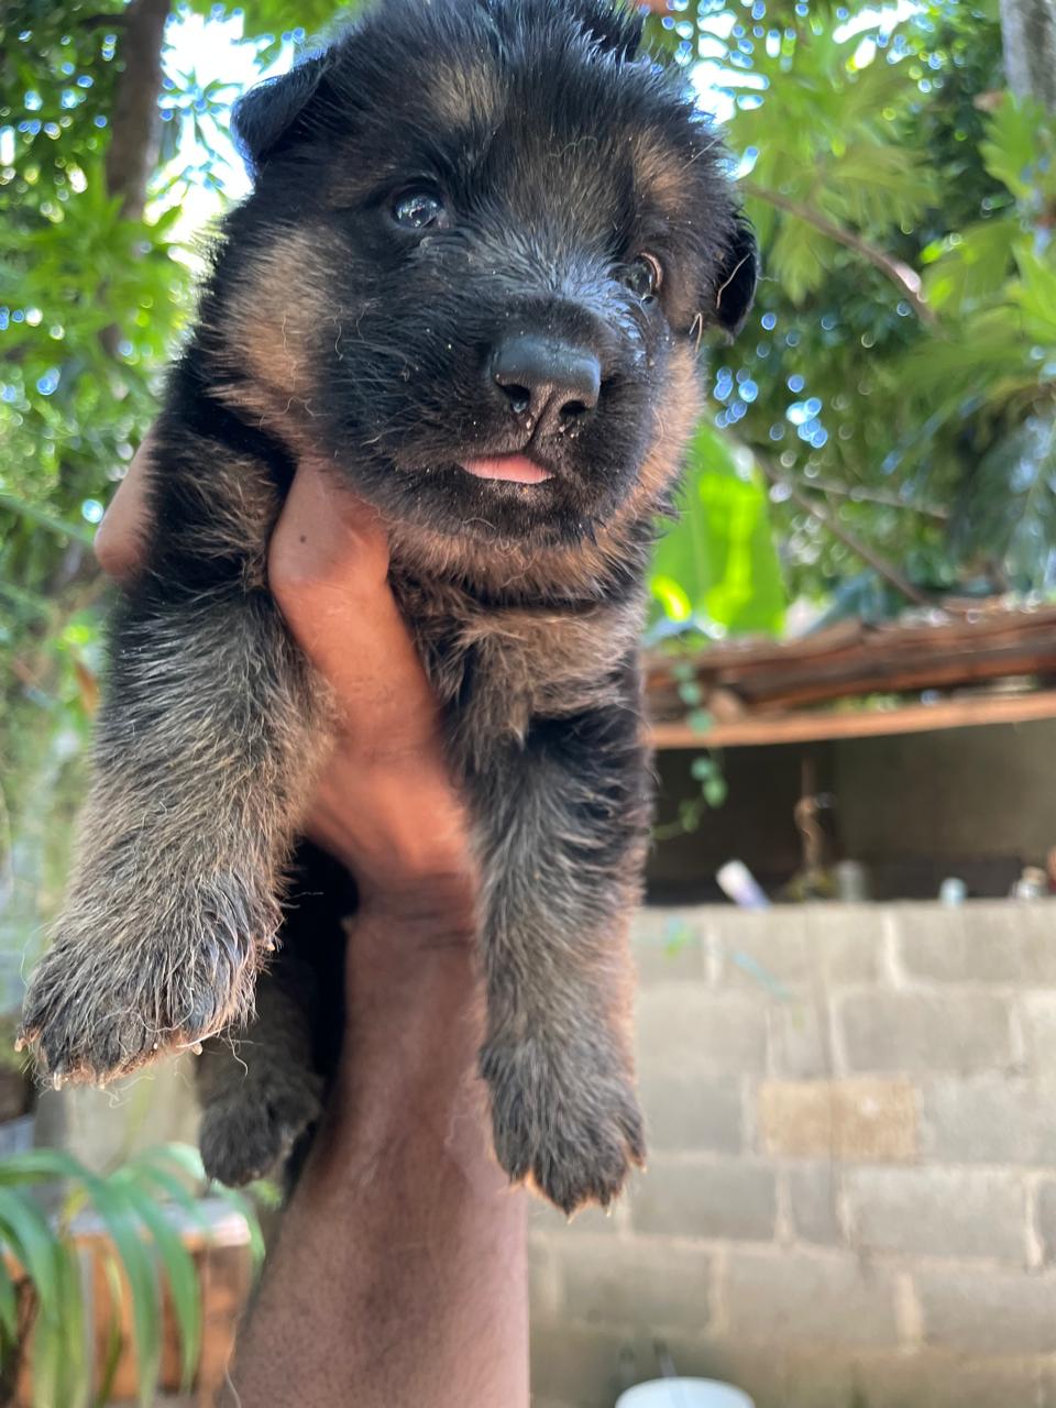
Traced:
<path fill-rule="evenodd" d="M 234 375 L 391 518 L 569 545 L 669 489 L 755 249 L 636 44 L 594 0 L 390 0 L 242 101 Z"/>

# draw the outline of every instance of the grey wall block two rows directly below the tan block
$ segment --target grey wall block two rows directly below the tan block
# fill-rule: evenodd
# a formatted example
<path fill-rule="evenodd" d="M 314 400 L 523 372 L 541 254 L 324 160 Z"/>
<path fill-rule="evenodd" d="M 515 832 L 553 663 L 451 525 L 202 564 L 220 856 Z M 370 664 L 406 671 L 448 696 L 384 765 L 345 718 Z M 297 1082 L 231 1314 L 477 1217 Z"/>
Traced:
<path fill-rule="evenodd" d="M 884 1349 L 898 1343 L 894 1284 L 850 1252 L 731 1250 L 727 1332 L 762 1346 Z"/>

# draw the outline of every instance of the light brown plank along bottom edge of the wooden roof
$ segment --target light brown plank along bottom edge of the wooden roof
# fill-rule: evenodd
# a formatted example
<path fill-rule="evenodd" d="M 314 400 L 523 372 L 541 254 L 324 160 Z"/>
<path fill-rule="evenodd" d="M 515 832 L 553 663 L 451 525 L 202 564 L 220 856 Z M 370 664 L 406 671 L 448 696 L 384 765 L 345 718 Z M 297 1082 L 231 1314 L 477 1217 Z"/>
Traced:
<path fill-rule="evenodd" d="M 689 724 L 653 724 L 653 748 L 758 748 L 773 743 L 814 743 L 835 738 L 880 738 L 890 734 L 931 734 L 946 728 L 979 728 L 984 724 L 1029 724 L 1056 718 L 1056 690 L 1033 694 L 987 694 L 942 700 L 938 704 L 904 704 L 891 710 L 857 710 L 846 714 L 755 714 L 729 724 L 715 724 L 705 734 Z"/>

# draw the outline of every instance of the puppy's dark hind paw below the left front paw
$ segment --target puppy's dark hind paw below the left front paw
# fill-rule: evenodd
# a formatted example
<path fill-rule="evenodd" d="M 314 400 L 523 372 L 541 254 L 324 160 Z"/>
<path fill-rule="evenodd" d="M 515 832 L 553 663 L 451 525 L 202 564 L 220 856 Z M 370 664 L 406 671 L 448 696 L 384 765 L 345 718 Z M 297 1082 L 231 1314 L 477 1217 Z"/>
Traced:
<path fill-rule="evenodd" d="M 232 1188 L 265 1177 L 320 1118 L 321 1090 L 311 1071 L 251 1067 L 241 1086 L 201 1111 L 199 1146 L 208 1177 Z"/>

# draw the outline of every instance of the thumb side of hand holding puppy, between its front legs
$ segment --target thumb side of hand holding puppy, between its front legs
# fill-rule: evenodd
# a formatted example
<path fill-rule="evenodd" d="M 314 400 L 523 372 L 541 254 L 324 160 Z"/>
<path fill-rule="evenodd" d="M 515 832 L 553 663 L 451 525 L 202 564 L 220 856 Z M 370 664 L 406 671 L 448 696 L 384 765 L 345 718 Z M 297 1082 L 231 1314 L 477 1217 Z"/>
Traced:
<path fill-rule="evenodd" d="M 465 815 L 436 703 L 389 584 L 384 525 L 328 466 L 301 462 L 272 538 L 269 579 L 339 715 L 308 832 L 355 870 L 360 890 L 387 890 L 393 876 L 407 884 L 463 872 Z"/>

